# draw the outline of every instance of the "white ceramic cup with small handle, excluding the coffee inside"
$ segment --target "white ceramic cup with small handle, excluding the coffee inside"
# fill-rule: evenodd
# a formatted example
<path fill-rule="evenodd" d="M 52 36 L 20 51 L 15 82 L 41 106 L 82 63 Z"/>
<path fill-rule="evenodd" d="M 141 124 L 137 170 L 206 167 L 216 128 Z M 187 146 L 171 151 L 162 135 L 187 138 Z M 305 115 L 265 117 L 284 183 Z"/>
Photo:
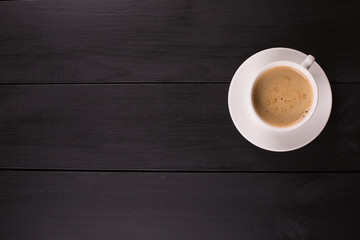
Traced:
<path fill-rule="evenodd" d="M 290 131 L 293 130 L 295 128 L 300 127 L 301 125 L 303 125 L 304 123 L 306 123 L 312 116 L 312 114 L 314 113 L 316 106 L 317 106 L 317 102 L 318 102 L 318 87 L 316 85 L 315 79 L 314 77 L 311 75 L 311 73 L 309 72 L 309 68 L 311 67 L 311 65 L 314 63 L 315 58 L 311 55 L 308 55 L 304 61 L 301 64 L 295 63 L 295 62 L 291 62 L 291 61 L 277 61 L 277 62 L 272 62 L 268 65 L 266 65 L 265 67 L 263 67 L 256 75 L 256 77 L 252 80 L 251 83 L 251 91 L 249 92 L 249 104 L 250 104 L 250 109 L 252 112 L 252 115 L 254 116 L 254 118 L 256 119 L 256 121 L 258 121 L 258 123 L 260 125 L 262 125 L 264 128 L 268 128 L 268 129 L 272 129 L 274 131 Z M 279 66 L 287 66 L 287 67 L 291 67 L 296 69 L 297 71 L 301 72 L 302 74 L 305 75 L 305 77 L 309 80 L 310 84 L 311 84 L 311 88 L 313 91 L 313 103 L 311 105 L 311 108 L 309 110 L 309 113 L 305 116 L 305 118 L 301 121 L 299 121 L 298 123 L 291 125 L 289 127 L 275 127 L 275 126 L 271 126 L 268 123 L 264 122 L 256 113 L 253 103 L 252 103 L 252 99 L 251 99 L 251 92 L 253 90 L 254 87 L 254 83 L 256 82 L 256 80 L 258 79 L 258 77 L 264 73 L 265 71 L 267 71 L 270 68 L 273 67 L 279 67 Z"/>

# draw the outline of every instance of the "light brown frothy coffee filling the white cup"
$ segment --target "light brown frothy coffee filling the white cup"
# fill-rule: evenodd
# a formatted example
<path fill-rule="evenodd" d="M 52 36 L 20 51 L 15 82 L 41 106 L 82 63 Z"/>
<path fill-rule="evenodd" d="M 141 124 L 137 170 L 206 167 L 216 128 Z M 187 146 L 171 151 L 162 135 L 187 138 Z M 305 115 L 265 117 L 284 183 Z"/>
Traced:
<path fill-rule="evenodd" d="M 302 121 L 313 102 L 310 81 L 297 69 L 273 67 L 255 81 L 252 104 L 257 115 L 274 127 L 289 127 Z"/>

